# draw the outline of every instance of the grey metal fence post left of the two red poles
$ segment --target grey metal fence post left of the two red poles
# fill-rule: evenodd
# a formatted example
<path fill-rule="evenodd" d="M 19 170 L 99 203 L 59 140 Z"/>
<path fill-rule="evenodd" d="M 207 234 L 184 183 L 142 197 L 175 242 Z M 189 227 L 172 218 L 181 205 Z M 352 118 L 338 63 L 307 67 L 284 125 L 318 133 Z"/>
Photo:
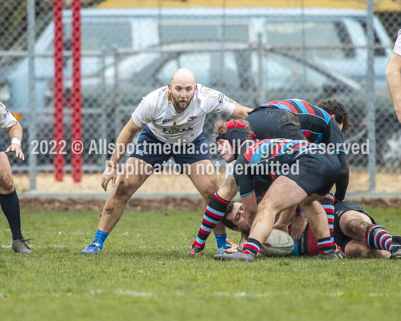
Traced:
<path fill-rule="evenodd" d="M 28 74 L 29 74 L 29 182 L 31 191 L 36 190 L 36 154 L 32 153 L 36 138 L 36 97 L 35 97 L 35 0 L 28 0 Z"/>

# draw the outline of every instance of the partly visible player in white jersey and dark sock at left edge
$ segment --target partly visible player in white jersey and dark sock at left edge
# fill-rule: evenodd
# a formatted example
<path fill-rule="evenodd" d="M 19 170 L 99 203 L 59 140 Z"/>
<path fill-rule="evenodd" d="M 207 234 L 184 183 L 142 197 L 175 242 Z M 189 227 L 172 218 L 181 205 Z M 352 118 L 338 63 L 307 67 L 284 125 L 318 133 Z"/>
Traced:
<path fill-rule="evenodd" d="M 0 128 L 8 130 L 11 138 L 11 145 L 7 149 L 0 142 L 0 206 L 13 234 L 14 252 L 31 254 L 32 250 L 27 242 L 30 243 L 29 241 L 33 239 L 24 239 L 21 232 L 20 201 L 14 188 L 10 162 L 6 155 L 15 152 L 16 157 L 25 159 L 21 150 L 22 127 L 2 102 L 0 102 Z"/>

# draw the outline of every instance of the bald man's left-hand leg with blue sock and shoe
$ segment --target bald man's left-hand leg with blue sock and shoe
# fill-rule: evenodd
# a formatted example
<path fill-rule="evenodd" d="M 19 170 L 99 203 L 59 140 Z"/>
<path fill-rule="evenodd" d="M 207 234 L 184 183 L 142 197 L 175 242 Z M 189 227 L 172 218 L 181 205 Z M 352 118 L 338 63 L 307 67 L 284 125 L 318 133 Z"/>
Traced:
<path fill-rule="evenodd" d="M 135 157 L 129 157 L 110 197 L 103 207 L 102 215 L 93 242 L 85 247 L 82 254 L 96 254 L 103 248 L 103 242 L 118 223 L 128 200 L 153 173 L 154 168 Z M 102 182 L 103 183 L 103 182 Z M 107 184 L 106 184 L 107 187 Z"/>

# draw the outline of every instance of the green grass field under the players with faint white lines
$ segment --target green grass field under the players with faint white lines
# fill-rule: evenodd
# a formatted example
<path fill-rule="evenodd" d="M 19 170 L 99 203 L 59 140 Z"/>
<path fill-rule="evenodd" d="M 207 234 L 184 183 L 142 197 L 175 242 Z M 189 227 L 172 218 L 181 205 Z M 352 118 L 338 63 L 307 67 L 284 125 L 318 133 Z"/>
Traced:
<path fill-rule="evenodd" d="M 390 234 L 401 211 L 368 209 Z M 97 213 L 23 212 L 34 254 L 0 215 L 1 320 L 399 320 L 401 261 L 188 258 L 203 213 L 124 213 L 98 255 Z M 238 240 L 234 232 L 229 237 Z"/>

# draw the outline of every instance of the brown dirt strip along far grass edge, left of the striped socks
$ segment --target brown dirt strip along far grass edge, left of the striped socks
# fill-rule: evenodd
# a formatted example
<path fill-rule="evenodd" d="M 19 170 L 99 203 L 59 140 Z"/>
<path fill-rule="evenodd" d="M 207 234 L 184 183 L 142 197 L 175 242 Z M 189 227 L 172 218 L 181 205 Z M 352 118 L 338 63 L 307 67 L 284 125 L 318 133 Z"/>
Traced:
<path fill-rule="evenodd" d="M 57 199 L 23 198 L 20 200 L 21 209 L 41 212 L 86 212 L 101 213 L 105 201 L 87 199 Z M 133 199 L 129 200 L 125 211 L 135 212 L 168 212 L 175 211 L 204 211 L 205 204 L 202 199 L 190 199 L 186 197 L 163 199 Z"/>

